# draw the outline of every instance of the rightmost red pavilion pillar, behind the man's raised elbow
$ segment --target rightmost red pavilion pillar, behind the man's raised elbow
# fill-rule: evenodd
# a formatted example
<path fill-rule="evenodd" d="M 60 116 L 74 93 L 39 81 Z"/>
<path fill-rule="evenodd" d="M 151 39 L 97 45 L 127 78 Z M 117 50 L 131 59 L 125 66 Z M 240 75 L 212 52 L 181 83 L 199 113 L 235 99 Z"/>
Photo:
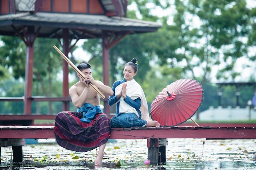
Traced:
<path fill-rule="evenodd" d="M 109 47 L 108 47 L 108 35 L 107 31 L 102 31 L 102 51 L 103 51 L 103 83 L 109 86 Z M 108 105 L 108 96 L 104 101 L 104 112 L 106 114 L 110 113 L 110 106 Z"/>

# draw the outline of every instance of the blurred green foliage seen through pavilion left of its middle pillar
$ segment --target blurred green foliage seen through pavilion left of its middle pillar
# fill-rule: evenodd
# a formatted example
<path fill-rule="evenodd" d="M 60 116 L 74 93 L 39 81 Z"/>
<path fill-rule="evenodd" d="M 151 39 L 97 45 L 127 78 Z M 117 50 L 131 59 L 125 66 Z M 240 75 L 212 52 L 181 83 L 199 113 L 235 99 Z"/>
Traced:
<path fill-rule="evenodd" d="M 0 38 L 3 42 L 0 47 L 1 96 L 22 97 L 25 91 L 25 44 L 18 37 Z M 63 59 L 54 51 L 55 44 L 58 44 L 56 39 L 40 38 L 34 43 L 33 96 L 62 96 L 62 78 L 57 76 L 62 69 Z M 8 78 L 10 75 L 16 80 Z M 24 102 L 0 102 L 0 105 L 0 113 L 23 113 Z M 31 109 L 32 113 L 58 113 L 60 108 L 61 102 L 32 102 Z"/>

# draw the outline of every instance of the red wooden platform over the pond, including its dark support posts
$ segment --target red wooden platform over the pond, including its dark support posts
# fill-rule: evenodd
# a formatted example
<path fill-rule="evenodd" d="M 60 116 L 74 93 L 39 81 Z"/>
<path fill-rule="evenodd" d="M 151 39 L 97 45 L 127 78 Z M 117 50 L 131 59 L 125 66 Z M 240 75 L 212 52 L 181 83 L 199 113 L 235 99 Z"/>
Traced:
<path fill-rule="evenodd" d="M 23 160 L 23 139 L 55 138 L 53 128 L 54 126 L 0 126 L 0 144 L 1 147 L 12 146 L 13 162 L 20 162 Z M 256 139 L 256 127 L 174 126 L 112 128 L 110 135 L 110 139 L 147 139 L 148 159 L 153 165 L 166 162 L 165 147 L 168 143 L 168 138 Z M 20 140 L 18 141 L 18 139 Z M 159 153 L 161 153 L 161 156 Z"/>

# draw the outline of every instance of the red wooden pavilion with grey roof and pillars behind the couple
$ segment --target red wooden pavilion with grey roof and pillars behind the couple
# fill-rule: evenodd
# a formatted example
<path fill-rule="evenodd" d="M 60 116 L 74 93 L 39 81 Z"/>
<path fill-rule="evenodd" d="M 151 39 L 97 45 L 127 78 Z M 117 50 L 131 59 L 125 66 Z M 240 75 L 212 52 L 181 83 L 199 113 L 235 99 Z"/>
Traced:
<path fill-rule="evenodd" d="M 68 64 L 63 60 L 63 96 L 32 96 L 34 41 L 56 38 L 68 56 L 79 39 L 102 39 L 103 83 L 109 85 L 109 50 L 129 34 L 157 31 L 156 22 L 126 18 L 127 0 L 0 0 L 0 35 L 18 36 L 27 46 L 24 114 L 31 115 L 32 101 L 62 101 L 69 110 Z M 71 44 L 71 40 L 75 40 Z M 54 50 L 54 49 L 53 49 Z M 104 101 L 105 113 L 110 113 Z M 8 98 L 11 101 L 10 98 Z"/>

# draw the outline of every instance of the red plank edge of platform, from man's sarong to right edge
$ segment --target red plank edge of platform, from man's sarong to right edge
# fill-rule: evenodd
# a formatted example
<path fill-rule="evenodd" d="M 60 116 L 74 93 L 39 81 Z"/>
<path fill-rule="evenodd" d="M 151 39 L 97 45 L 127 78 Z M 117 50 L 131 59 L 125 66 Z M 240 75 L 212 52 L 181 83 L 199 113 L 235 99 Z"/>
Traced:
<path fill-rule="evenodd" d="M 112 139 L 145 139 L 145 138 L 205 138 L 205 139 L 256 139 L 256 128 L 236 129 L 221 127 L 171 127 L 169 129 L 148 128 L 130 131 L 112 130 Z"/>

